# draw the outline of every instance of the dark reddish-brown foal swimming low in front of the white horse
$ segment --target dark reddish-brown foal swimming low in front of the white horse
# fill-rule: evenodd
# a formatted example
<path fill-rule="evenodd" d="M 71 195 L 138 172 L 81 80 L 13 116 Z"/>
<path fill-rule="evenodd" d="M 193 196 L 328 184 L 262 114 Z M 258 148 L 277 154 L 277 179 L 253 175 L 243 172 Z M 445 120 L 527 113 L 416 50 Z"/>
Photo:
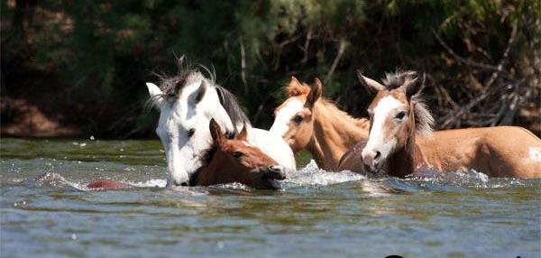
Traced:
<path fill-rule="evenodd" d="M 284 180 L 283 168 L 264 152 L 246 142 L 246 127 L 235 139 L 227 139 L 220 125 L 210 120 L 213 147 L 202 156 L 203 167 L 190 178 L 190 186 L 211 186 L 239 182 L 255 189 L 279 189 L 276 180 Z M 87 189 L 127 189 L 129 184 L 114 180 L 96 180 Z"/>

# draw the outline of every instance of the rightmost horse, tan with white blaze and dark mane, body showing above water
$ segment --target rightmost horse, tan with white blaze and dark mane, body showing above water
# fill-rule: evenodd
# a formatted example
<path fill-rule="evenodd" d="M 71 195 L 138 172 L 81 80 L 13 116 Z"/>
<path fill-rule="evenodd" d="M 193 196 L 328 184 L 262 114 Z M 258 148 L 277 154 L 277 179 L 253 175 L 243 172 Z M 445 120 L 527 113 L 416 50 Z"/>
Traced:
<path fill-rule="evenodd" d="M 415 170 L 476 170 L 491 177 L 541 177 L 541 140 L 513 126 L 447 130 L 432 134 L 433 118 L 422 102 L 424 76 L 388 74 L 368 112 L 370 136 L 362 150 L 365 170 L 403 177 Z"/>

